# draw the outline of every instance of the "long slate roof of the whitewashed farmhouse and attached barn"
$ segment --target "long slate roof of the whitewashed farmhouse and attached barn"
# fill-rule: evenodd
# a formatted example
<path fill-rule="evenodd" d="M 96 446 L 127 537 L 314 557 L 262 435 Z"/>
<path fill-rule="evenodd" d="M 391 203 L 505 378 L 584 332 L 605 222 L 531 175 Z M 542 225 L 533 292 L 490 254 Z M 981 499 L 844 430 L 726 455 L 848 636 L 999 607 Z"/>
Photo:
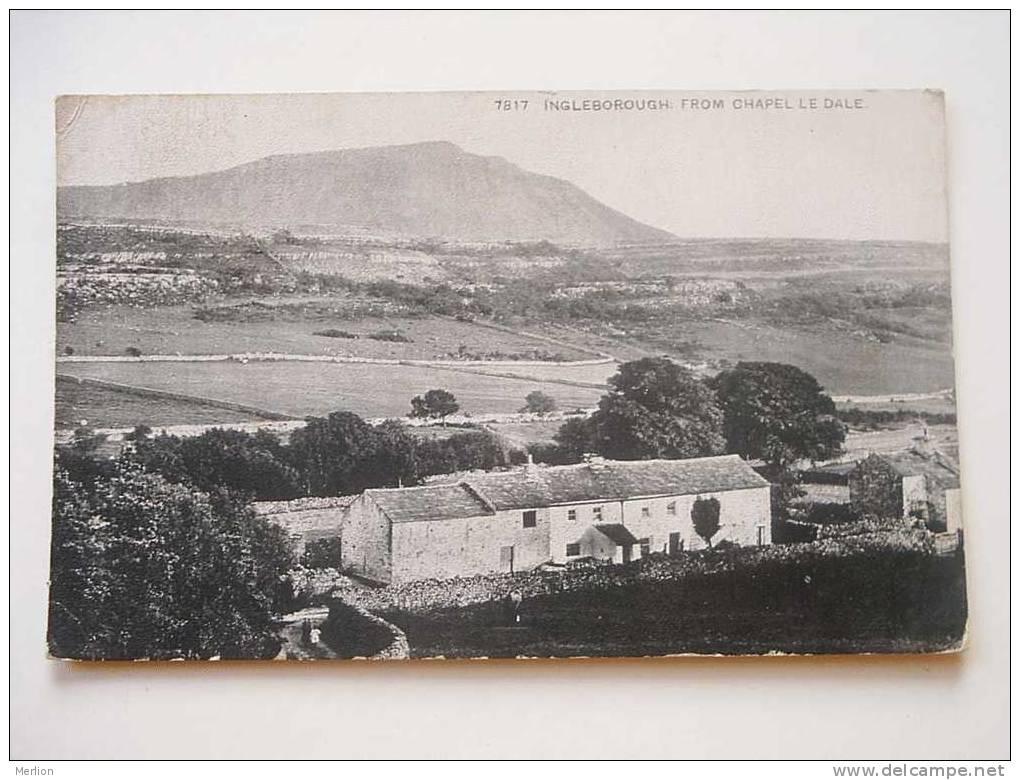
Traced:
<path fill-rule="evenodd" d="M 654 461 L 598 461 L 571 466 L 531 466 L 465 477 L 456 484 L 371 489 L 395 523 L 480 517 L 494 511 L 561 504 L 620 501 L 654 496 L 766 487 L 740 456 Z"/>

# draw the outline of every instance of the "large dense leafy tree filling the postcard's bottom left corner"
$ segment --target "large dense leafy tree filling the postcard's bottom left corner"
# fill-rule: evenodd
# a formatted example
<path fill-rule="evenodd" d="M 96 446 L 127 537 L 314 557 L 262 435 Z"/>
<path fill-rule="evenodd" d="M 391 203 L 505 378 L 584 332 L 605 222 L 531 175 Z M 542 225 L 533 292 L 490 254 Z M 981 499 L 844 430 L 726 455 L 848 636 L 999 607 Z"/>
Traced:
<path fill-rule="evenodd" d="M 49 643 L 62 658 L 266 658 L 293 566 L 286 533 L 236 495 L 128 459 L 54 475 Z"/>

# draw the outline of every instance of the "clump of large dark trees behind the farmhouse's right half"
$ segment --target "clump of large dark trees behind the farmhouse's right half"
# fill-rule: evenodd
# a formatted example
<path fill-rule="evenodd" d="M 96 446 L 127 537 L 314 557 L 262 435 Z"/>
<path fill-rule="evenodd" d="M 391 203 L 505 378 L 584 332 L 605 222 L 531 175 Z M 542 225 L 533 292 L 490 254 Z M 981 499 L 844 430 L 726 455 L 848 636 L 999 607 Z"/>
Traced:
<path fill-rule="evenodd" d="M 764 461 L 782 508 L 796 495 L 795 464 L 839 454 L 846 428 L 806 371 L 745 362 L 705 379 L 668 358 L 623 363 L 595 413 L 560 427 L 537 460 L 577 463 L 585 453 L 619 460 L 735 453 Z"/>

